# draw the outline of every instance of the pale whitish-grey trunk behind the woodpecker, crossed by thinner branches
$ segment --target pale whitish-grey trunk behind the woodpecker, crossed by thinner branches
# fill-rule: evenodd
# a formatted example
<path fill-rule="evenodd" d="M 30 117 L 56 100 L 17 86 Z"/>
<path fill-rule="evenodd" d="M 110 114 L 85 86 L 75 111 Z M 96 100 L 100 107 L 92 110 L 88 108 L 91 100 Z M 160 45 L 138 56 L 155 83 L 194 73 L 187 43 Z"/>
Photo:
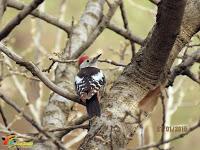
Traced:
<path fill-rule="evenodd" d="M 66 59 L 75 53 L 88 39 L 88 35 L 95 29 L 103 13 L 104 0 L 89 0 L 80 21 L 72 29 L 70 40 L 64 51 L 63 58 Z M 77 69 L 74 65 L 58 64 L 55 71 L 55 83 L 66 89 L 68 92 L 74 92 L 74 76 Z M 49 99 L 49 104 L 45 108 L 42 117 L 42 124 L 45 128 L 55 129 L 67 125 L 69 112 L 74 103 L 62 96 L 53 93 Z M 48 146 L 47 146 L 48 145 Z M 55 149 L 48 143 L 38 143 L 34 149 Z"/>

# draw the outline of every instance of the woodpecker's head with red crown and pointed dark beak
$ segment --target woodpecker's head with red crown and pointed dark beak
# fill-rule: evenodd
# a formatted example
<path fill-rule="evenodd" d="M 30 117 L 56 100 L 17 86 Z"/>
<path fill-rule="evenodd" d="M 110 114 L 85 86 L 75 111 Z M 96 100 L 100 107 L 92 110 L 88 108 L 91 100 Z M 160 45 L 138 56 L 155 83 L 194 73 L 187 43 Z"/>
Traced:
<path fill-rule="evenodd" d="M 95 67 L 96 62 L 100 56 L 101 56 L 101 54 L 99 54 L 95 57 L 89 58 L 87 55 L 83 55 L 83 56 L 79 57 L 78 65 L 80 68 Z"/>

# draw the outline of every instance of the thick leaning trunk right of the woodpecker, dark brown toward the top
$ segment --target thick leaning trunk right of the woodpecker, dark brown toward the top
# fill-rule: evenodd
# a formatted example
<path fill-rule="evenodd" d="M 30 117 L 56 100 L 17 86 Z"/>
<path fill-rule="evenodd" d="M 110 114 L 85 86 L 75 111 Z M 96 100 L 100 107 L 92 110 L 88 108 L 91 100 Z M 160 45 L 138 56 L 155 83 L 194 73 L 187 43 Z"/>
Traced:
<path fill-rule="evenodd" d="M 179 33 L 185 2 L 163 0 L 158 5 L 156 24 L 146 44 L 102 98 L 102 115 L 94 118 L 80 149 L 126 148 L 138 126 L 139 101 L 164 79 L 164 67 Z"/>

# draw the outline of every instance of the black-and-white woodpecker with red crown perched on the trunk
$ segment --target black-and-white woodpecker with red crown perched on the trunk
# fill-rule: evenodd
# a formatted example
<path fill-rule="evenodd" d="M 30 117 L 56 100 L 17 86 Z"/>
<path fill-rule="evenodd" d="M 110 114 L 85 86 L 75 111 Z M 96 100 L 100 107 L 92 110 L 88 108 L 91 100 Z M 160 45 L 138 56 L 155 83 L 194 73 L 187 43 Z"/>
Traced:
<path fill-rule="evenodd" d="M 75 88 L 80 99 L 85 102 L 89 118 L 100 116 L 99 92 L 105 85 L 105 76 L 97 67 L 101 54 L 89 58 L 83 55 L 78 59 L 79 72 L 75 77 Z"/>

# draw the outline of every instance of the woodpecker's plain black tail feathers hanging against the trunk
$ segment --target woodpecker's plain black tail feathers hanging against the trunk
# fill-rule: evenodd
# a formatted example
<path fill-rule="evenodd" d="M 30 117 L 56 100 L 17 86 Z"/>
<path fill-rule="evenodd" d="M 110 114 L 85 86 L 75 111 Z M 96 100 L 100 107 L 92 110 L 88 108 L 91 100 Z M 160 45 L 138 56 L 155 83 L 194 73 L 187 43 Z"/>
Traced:
<path fill-rule="evenodd" d="M 89 118 L 101 115 L 97 94 L 93 95 L 89 100 L 86 100 L 86 108 Z"/>

